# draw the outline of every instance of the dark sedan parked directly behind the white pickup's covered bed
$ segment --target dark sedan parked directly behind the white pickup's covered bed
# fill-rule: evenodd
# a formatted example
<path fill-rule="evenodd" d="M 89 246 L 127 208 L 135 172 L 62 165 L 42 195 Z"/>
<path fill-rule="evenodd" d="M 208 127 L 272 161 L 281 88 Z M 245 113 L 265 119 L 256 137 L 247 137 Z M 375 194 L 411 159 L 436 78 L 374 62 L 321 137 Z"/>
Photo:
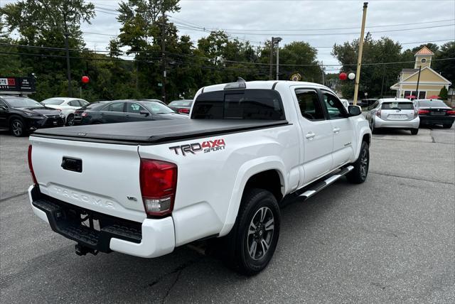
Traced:
<path fill-rule="evenodd" d="M 151 100 L 98 102 L 75 112 L 75 124 L 111 124 L 164 119 L 188 119 L 188 116 L 174 112 L 162 102 Z"/>

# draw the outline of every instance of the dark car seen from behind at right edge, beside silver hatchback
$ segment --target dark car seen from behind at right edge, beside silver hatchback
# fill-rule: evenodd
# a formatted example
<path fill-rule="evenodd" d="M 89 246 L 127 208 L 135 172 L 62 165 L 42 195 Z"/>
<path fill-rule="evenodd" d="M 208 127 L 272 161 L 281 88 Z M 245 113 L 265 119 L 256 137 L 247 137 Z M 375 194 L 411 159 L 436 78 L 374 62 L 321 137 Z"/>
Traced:
<path fill-rule="evenodd" d="M 416 100 L 419 109 L 420 126 L 441 124 L 443 128 L 451 128 L 455 121 L 455 110 L 441 100 Z"/>

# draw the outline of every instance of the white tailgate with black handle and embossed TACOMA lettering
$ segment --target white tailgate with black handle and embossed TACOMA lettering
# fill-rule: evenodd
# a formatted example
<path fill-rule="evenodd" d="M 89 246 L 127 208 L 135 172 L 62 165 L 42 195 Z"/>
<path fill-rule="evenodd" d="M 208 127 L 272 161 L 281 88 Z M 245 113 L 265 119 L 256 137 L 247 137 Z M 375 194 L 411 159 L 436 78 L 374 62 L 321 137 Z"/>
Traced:
<path fill-rule="evenodd" d="M 43 194 L 135 222 L 146 218 L 137 146 L 36 136 L 30 141 L 33 170 Z"/>

